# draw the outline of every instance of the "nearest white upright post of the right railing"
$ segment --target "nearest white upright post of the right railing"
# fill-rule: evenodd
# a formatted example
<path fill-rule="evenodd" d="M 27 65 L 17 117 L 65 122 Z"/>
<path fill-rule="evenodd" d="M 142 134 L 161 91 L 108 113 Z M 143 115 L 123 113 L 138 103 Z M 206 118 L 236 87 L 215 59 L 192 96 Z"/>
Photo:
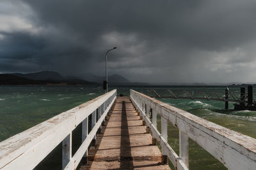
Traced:
<path fill-rule="evenodd" d="M 189 165 L 189 153 L 188 153 L 189 143 L 188 135 L 182 131 L 179 131 L 179 150 L 180 150 L 180 159 L 186 164 Z"/>

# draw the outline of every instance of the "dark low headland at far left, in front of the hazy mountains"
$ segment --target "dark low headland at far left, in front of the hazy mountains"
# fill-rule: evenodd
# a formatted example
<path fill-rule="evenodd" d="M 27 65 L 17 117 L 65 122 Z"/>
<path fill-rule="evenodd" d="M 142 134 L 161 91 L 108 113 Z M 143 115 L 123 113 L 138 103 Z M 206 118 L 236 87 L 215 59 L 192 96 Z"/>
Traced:
<path fill-rule="evenodd" d="M 31 80 L 12 74 L 0 74 L 0 85 L 46 85 L 47 83 L 56 84 L 56 81 Z"/>

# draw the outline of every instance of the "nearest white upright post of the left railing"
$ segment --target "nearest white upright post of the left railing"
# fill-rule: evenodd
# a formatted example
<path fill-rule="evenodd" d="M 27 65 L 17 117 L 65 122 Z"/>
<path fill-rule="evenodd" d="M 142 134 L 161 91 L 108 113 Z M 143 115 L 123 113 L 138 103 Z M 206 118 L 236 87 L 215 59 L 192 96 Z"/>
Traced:
<path fill-rule="evenodd" d="M 71 160 L 72 154 L 72 133 L 62 141 L 62 169 L 64 169 Z"/>

